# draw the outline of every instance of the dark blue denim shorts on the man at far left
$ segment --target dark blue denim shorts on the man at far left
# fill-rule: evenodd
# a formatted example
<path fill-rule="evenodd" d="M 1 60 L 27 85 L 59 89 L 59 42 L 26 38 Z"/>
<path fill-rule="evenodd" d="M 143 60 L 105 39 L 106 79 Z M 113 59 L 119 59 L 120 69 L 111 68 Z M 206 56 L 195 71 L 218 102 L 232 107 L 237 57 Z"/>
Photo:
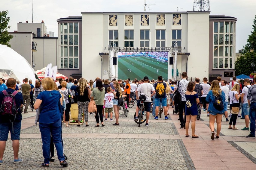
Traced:
<path fill-rule="evenodd" d="M 14 133 L 12 131 L 11 122 L 0 123 L 0 141 L 7 141 L 9 131 L 11 132 L 11 140 L 20 140 L 21 122 L 13 123 Z"/>

